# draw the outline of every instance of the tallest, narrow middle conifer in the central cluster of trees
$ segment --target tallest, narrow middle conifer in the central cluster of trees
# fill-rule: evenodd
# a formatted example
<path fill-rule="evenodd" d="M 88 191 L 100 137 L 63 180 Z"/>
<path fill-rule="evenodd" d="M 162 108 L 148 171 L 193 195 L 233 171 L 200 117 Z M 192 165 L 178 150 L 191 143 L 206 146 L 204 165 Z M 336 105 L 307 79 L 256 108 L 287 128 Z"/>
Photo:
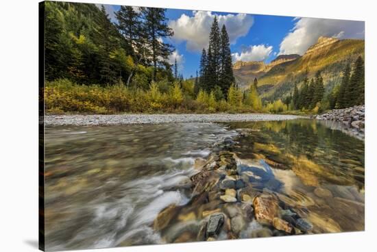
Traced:
<path fill-rule="evenodd" d="M 212 75 L 210 79 L 209 89 L 215 88 L 215 85 L 219 81 L 219 73 L 221 71 L 221 38 L 219 23 L 217 22 L 217 17 L 213 19 L 212 27 L 210 28 L 210 38 L 208 47 L 208 66 L 213 72 L 209 72 Z"/>

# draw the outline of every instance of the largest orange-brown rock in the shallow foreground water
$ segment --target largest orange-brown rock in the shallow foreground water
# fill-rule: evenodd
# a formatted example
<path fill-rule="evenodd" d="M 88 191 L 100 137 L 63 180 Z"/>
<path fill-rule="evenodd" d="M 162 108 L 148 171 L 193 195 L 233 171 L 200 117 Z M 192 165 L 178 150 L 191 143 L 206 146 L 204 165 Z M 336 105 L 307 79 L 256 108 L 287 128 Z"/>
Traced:
<path fill-rule="evenodd" d="M 254 198 L 253 205 L 256 220 L 271 225 L 273 218 L 278 214 L 278 199 L 273 194 L 262 194 Z"/>

